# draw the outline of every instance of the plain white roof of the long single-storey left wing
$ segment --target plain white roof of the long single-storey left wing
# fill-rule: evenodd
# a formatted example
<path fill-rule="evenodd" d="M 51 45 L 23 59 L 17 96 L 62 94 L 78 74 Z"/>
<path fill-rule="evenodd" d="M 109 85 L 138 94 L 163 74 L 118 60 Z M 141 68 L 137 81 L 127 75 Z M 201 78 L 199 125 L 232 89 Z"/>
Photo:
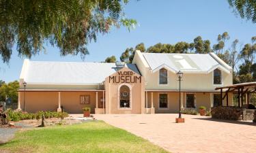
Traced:
<path fill-rule="evenodd" d="M 139 73 L 137 66 L 126 64 Z M 75 63 L 25 60 L 20 79 L 27 84 L 96 85 L 117 71 L 115 63 Z M 139 73 L 140 75 L 140 73 Z"/>

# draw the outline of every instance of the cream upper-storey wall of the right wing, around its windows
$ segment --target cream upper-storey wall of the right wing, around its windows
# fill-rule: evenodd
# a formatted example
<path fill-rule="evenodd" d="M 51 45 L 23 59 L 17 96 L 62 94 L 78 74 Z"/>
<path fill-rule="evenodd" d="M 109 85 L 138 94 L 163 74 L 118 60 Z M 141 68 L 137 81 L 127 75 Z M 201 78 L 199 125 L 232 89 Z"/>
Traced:
<path fill-rule="evenodd" d="M 144 63 L 143 63 L 144 61 Z M 145 65 L 145 58 L 141 52 L 136 52 L 132 63 L 136 64 L 141 71 L 141 74 L 145 78 L 146 90 L 178 90 L 179 82 L 177 81 L 176 73 L 168 71 L 168 84 L 160 85 L 159 71 L 152 72 L 150 67 Z M 233 84 L 232 72 L 227 73 L 222 71 L 223 84 L 214 85 L 213 84 L 213 71 L 210 73 L 184 73 L 181 88 L 182 90 L 214 90 L 218 86 L 228 86 Z"/>

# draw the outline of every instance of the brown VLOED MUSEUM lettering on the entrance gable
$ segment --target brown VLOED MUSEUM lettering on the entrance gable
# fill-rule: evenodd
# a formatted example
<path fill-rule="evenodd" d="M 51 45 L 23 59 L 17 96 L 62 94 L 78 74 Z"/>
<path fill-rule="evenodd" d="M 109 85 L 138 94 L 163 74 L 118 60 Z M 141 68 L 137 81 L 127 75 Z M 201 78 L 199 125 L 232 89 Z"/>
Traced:
<path fill-rule="evenodd" d="M 109 76 L 109 83 L 126 83 L 136 84 L 141 83 L 141 76 L 134 75 L 133 71 L 117 71 L 117 76 Z"/>

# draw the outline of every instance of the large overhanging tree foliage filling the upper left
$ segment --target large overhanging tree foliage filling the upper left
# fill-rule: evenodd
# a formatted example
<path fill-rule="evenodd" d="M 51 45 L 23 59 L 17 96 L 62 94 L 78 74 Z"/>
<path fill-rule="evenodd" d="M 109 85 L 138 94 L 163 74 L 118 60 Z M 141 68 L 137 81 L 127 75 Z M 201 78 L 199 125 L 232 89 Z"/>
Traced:
<path fill-rule="evenodd" d="M 31 57 L 44 44 L 57 46 L 61 56 L 88 54 L 87 44 L 111 27 L 130 30 L 136 20 L 124 18 L 128 0 L 1 0 L 0 56 L 8 63 L 16 48 L 19 56 Z"/>

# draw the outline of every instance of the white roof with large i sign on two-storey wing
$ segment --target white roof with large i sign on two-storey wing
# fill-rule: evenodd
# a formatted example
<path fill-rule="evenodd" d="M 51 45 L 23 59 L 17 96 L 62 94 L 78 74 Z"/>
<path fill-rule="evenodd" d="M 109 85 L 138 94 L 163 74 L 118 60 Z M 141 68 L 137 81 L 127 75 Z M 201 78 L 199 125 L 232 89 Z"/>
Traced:
<path fill-rule="evenodd" d="M 152 72 L 165 68 L 173 73 L 210 73 L 214 69 L 221 69 L 231 73 L 232 68 L 216 54 L 168 54 L 168 53 L 142 53 L 145 61 L 150 65 Z"/>

